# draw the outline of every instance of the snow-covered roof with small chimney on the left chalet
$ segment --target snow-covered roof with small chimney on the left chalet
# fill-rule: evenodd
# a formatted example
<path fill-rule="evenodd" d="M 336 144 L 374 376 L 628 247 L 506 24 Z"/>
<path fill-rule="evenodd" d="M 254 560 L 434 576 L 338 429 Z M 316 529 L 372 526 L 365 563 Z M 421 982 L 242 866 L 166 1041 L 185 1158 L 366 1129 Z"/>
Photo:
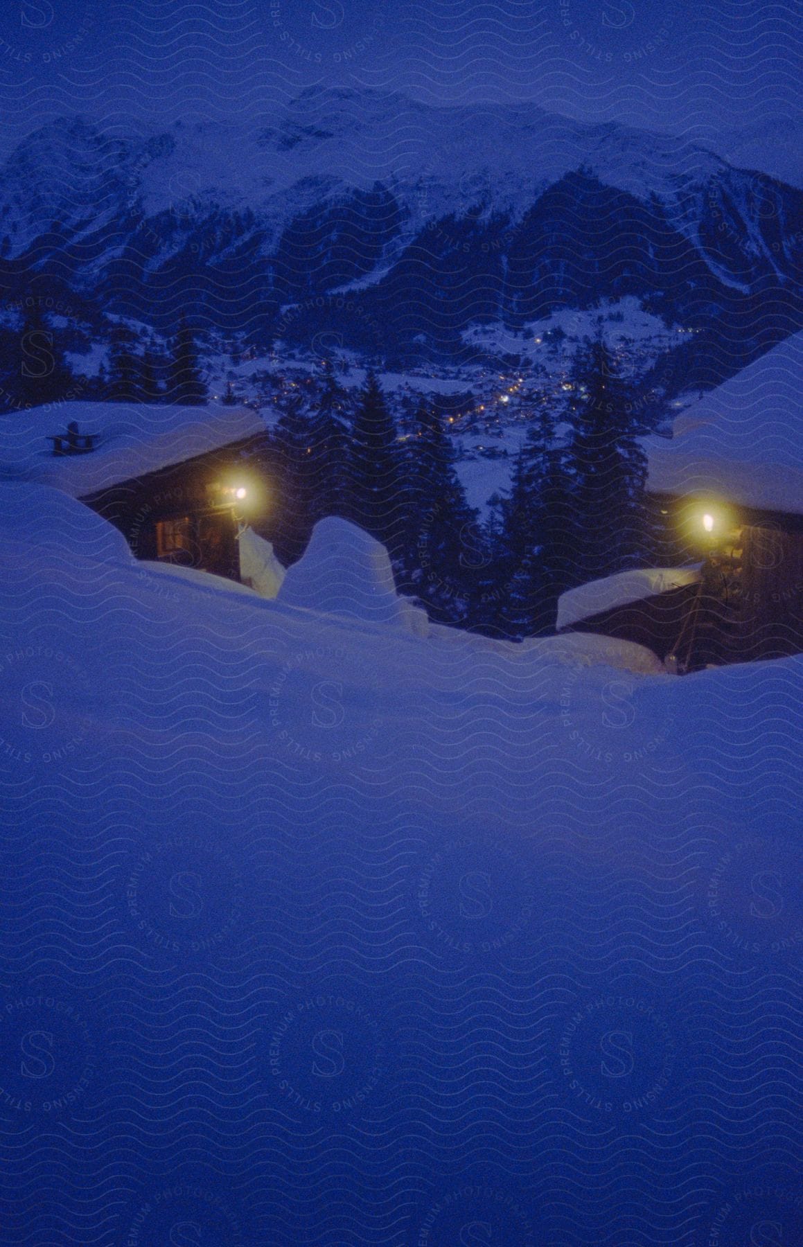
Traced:
<path fill-rule="evenodd" d="M 47 438 L 72 420 L 100 435 L 96 449 L 55 456 Z M 263 431 L 257 413 L 241 407 L 57 403 L 0 416 L 0 476 L 84 498 Z"/>

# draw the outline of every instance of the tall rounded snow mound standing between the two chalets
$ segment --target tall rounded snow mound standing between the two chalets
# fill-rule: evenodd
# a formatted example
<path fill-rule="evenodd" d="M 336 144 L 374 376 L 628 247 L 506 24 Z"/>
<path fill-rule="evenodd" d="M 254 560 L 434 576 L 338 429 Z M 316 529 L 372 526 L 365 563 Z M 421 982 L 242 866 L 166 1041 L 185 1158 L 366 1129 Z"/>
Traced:
<path fill-rule="evenodd" d="M 287 570 L 279 602 L 423 635 L 424 612 L 397 594 L 388 551 L 347 520 L 315 524 L 303 557 Z"/>

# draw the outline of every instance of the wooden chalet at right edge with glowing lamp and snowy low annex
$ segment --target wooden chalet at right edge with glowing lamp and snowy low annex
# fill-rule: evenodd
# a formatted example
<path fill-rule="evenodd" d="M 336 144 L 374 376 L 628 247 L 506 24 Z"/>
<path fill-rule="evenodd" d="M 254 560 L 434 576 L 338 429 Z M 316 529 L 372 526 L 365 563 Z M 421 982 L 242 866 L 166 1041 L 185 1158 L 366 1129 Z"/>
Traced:
<path fill-rule="evenodd" d="M 582 586 L 559 628 L 636 641 L 678 671 L 803 652 L 801 375 L 796 334 L 686 408 L 671 439 L 647 439 L 676 582 L 657 570 Z"/>

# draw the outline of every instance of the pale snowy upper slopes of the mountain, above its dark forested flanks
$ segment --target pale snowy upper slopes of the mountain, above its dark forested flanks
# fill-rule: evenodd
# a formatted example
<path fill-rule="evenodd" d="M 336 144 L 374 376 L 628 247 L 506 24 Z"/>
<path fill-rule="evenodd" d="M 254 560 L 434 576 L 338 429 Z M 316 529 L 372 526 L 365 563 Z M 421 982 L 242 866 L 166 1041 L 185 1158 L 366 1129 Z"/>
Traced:
<path fill-rule="evenodd" d="M 342 186 L 369 191 L 378 181 L 419 224 L 460 214 L 471 201 L 520 216 L 581 156 L 607 185 L 641 198 L 723 167 L 713 153 L 670 136 L 582 126 L 532 106 L 444 108 L 369 90 L 310 87 L 261 128 L 176 122 L 158 135 L 110 140 L 90 122 L 65 117 L 7 162 L 0 228 L 19 253 L 37 237 L 45 211 L 57 213 L 80 196 L 84 209 L 136 206 L 147 217 L 170 212 L 177 221 L 204 203 L 259 208 L 278 231 L 289 207 Z M 34 172 L 45 180 L 31 196 Z M 85 217 L 76 211 L 74 221 Z"/>

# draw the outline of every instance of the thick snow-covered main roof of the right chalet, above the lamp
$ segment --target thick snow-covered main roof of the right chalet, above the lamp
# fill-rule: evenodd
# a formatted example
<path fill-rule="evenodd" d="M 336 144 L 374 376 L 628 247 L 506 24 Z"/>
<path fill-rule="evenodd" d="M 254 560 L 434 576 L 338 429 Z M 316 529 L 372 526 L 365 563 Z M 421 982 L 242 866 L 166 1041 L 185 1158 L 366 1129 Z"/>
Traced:
<path fill-rule="evenodd" d="M 687 407 L 648 438 L 648 489 L 803 514 L 803 333 Z"/>

